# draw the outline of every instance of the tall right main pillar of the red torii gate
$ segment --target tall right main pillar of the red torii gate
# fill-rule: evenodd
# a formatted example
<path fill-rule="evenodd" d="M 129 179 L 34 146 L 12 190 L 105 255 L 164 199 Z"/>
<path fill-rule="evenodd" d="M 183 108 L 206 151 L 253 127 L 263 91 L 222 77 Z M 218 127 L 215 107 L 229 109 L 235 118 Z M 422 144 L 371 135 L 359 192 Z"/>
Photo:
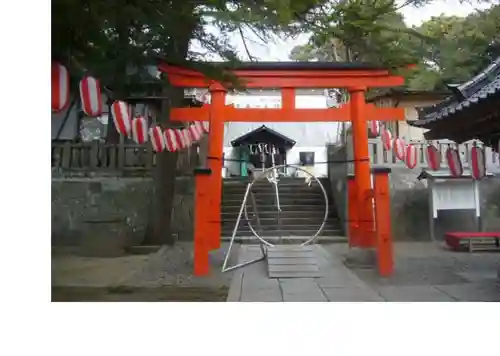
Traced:
<path fill-rule="evenodd" d="M 366 121 L 365 90 L 363 87 L 349 88 L 352 135 L 354 143 L 354 174 L 357 185 L 359 214 L 359 247 L 375 246 L 373 233 L 373 204 L 368 198 L 371 191 L 370 157 L 368 153 L 368 126 Z"/>

